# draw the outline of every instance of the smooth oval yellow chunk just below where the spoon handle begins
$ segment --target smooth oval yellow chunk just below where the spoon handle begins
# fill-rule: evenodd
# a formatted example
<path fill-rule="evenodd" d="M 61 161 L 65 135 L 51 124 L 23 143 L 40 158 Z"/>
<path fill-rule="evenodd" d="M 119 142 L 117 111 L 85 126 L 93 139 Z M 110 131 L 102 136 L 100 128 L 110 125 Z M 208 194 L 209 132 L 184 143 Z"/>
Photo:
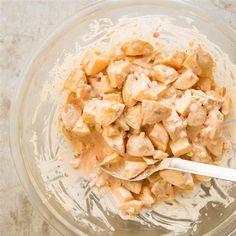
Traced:
<path fill-rule="evenodd" d="M 173 184 L 177 187 L 183 186 L 187 181 L 187 175 L 184 172 L 177 170 L 161 170 L 159 175 L 166 182 Z"/>

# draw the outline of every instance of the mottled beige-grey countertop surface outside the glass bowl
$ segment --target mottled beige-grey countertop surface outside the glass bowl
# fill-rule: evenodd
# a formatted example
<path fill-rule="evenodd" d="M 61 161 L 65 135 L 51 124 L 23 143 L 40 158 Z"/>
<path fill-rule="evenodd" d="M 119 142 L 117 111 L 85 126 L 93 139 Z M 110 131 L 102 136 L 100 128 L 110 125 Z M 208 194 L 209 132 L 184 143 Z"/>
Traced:
<path fill-rule="evenodd" d="M 46 35 L 91 0 L 0 0 L 0 236 L 57 236 L 32 207 L 18 180 L 8 143 L 11 99 Z M 192 0 L 236 28 L 235 0 Z"/>

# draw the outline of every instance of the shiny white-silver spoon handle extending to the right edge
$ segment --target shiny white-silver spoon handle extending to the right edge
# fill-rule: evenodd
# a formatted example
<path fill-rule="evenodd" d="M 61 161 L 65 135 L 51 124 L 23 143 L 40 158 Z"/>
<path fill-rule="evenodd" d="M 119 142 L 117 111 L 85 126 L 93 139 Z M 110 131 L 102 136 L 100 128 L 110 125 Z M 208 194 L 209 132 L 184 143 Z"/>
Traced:
<path fill-rule="evenodd" d="M 187 161 L 180 158 L 169 158 L 167 169 L 236 182 L 236 169 Z"/>

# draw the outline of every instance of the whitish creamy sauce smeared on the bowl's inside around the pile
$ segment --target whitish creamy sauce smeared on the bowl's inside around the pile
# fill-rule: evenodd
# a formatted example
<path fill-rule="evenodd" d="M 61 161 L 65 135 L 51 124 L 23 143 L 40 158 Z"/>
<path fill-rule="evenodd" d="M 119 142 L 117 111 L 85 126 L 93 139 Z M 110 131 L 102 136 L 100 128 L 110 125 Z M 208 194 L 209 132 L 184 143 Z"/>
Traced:
<path fill-rule="evenodd" d="M 188 48 L 189 42 L 194 39 L 196 43 L 200 43 L 214 56 L 214 59 L 217 63 L 216 79 L 220 79 L 221 76 L 224 75 L 224 77 L 229 78 L 227 81 L 231 81 L 233 75 L 235 75 L 235 66 L 229 61 L 227 56 L 220 51 L 219 48 L 210 43 L 203 35 L 199 34 L 196 29 L 190 30 L 187 28 L 175 26 L 171 19 L 168 19 L 168 17 L 152 16 L 150 18 L 147 16 L 134 19 L 121 19 L 120 22 L 115 26 L 113 26 L 112 22 L 110 22 L 108 19 L 102 19 L 92 24 L 92 32 L 88 35 L 85 35 L 84 39 L 91 40 L 92 37 L 99 35 L 101 31 L 104 30 L 104 24 L 107 26 L 107 28 L 105 27 L 106 35 L 96 43 L 99 45 L 104 45 L 104 49 L 107 51 L 111 49 L 112 44 L 127 41 L 133 37 L 144 39 L 150 43 L 155 43 L 157 41 L 162 42 L 167 48 L 173 50 L 184 50 Z M 100 28 L 101 25 L 102 28 Z M 160 33 L 160 37 L 158 39 L 153 37 L 153 32 L 157 31 Z M 123 37 L 124 32 L 126 32 L 125 38 Z M 96 47 L 95 44 L 89 46 Z M 44 99 L 44 95 L 49 95 L 54 98 L 59 95 L 59 87 L 61 87 L 63 81 L 69 75 L 71 70 L 78 66 L 81 55 L 83 54 L 82 52 L 84 50 L 86 49 L 80 48 L 77 45 L 77 52 L 74 55 L 67 55 L 62 64 L 55 66 L 52 71 L 52 82 L 45 86 L 44 94 L 42 94 L 42 100 Z M 57 102 L 60 104 L 62 101 L 59 101 L 58 99 Z M 54 116 L 54 118 L 55 120 L 52 122 L 53 129 L 51 133 L 53 137 L 52 145 L 56 147 L 58 146 L 58 136 L 55 136 L 58 133 L 58 127 L 55 126 L 57 114 Z M 34 136 L 34 140 L 35 139 L 37 139 L 37 134 Z M 80 186 L 80 183 L 78 183 L 78 172 L 74 171 L 69 163 L 71 160 L 70 156 L 72 155 L 72 153 L 69 154 L 69 152 L 70 150 L 66 146 L 65 149 L 60 148 L 57 153 L 57 156 L 59 157 L 57 163 L 50 162 L 49 157 L 39 161 L 39 167 L 42 171 L 42 176 L 46 181 L 49 192 L 55 194 L 65 209 L 70 211 L 71 214 L 73 214 L 77 219 L 80 219 L 80 217 L 83 215 L 83 212 L 86 211 L 86 207 L 90 205 L 90 207 L 93 208 L 92 214 L 101 219 L 101 222 L 92 224 L 94 229 L 98 231 L 102 230 L 103 228 L 114 230 L 115 225 L 109 222 L 109 218 L 107 218 L 106 214 L 101 210 L 109 209 L 111 212 L 116 214 L 116 207 L 113 205 L 116 203 L 113 201 L 109 193 L 100 193 L 94 189 L 88 190 L 88 186 L 85 187 L 87 183 L 84 181 L 82 182 L 85 186 Z M 229 158 L 233 156 L 232 153 L 228 155 Z M 227 161 L 226 158 L 223 160 Z M 59 170 L 57 168 L 58 165 L 60 165 Z M 231 161 L 231 166 L 235 166 L 234 160 Z M 58 173 L 60 173 L 60 178 L 56 178 L 55 181 L 47 180 L 47 176 L 51 176 L 53 179 L 53 176 L 58 176 Z M 65 177 L 63 177 L 63 175 L 65 175 Z M 62 184 L 64 186 L 63 188 Z M 218 192 L 218 187 L 214 187 L 215 185 L 219 185 L 221 193 Z M 132 219 L 132 221 L 139 221 L 146 226 L 161 225 L 170 230 L 185 232 L 191 224 L 188 220 L 197 220 L 199 217 L 199 210 L 202 209 L 208 202 L 221 202 L 225 206 L 232 202 L 233 199 L 227 195 L 227 190 L 231 187 L 231 184 L 223 181 L 215 181 L 215 185 L 210 186 L 210 194 L 205 197 L 202 197 L 204 190 L 201 187 L 196 187 L 191 193 L 180 192 L 177 195 L 176 201 L 171 202 L 172 205 L 166 204 L 164 202 L 160 203 L 155 207 L 155 214 L 150 214 L 149 212 L 144 211 L 141 213 L 140 217 Z M 78 186 L 80 186 L 81 189 L 78 189 Z M 67 193 L 65 193 L 64 189 L 66 189 Z M 83 192 L 85 196 L 88 197 L 86 201 L 83 199 Z M 80 193 L 79 196 L 77 196 L 77 193 Z M 222 193 L 225 195 L 223 196 Z M 76 204 L 75 202 L 71 201 L 72 198 L 76 201 Z M 101 199 L 98 201 L 98 198 Z M 178 227 L 173 224 L 173 220 L 175 218 L 183 219 L 179 222 Z M 84 221 L 85 224 L 88 223 L 87 219 L 84 217 L 80 220 Z"/>

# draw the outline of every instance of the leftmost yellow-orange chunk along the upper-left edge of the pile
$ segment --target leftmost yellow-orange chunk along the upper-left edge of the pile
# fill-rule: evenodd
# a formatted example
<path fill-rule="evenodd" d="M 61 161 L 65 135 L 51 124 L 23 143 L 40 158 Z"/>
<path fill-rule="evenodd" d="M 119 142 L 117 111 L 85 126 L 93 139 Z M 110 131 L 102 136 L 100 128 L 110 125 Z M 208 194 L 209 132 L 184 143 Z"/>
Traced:
<path fill-rule="evenodd" d="M 63 88 L 65 90 L 69 90 L 71 92 L 76 93 L 77 88 L 81 84 L 87 83 L 86 76 L 84 72 L 78 68 L 70 73 L 68 78 L 66 79 Z"/>

